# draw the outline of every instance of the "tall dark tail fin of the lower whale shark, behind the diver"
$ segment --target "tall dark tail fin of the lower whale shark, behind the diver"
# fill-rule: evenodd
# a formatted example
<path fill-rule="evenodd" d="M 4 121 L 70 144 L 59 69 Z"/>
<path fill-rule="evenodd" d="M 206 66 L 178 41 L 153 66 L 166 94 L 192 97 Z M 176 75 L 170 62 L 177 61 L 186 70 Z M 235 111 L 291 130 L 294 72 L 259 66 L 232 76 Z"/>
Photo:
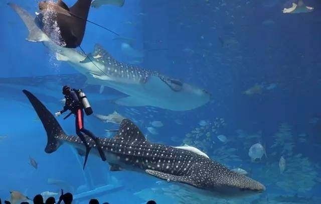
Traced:
<path fill-rule="evenodd" d="M 47 132 L 47 146 L 45 148 L 46 153 L 55 152 L 61 145 L 56 139 L 58 137 L 65 136 L 65 132 L 62 130 L 58 121 L 50 113 L 50 111 L 41 103 L 41 101 L 28 90 L 23 90 L 28 99 L 30 100 L 31 105 L 34 107 L 37 112 L 38 117 L 40 118 L 46 132 Z"/>

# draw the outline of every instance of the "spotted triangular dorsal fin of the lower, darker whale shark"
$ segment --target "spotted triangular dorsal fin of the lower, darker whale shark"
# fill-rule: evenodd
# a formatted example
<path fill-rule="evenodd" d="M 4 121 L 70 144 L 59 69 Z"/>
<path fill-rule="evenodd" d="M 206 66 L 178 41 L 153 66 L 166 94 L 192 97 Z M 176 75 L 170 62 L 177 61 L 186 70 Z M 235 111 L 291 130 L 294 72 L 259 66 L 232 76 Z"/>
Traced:
<path fill-rule="evenodd" d="M 147 142 L 146 138 L 139 128 L 129 119 L 121 121 L 117 135 L 114 139 L 124 140 L 126 142 Z"/>

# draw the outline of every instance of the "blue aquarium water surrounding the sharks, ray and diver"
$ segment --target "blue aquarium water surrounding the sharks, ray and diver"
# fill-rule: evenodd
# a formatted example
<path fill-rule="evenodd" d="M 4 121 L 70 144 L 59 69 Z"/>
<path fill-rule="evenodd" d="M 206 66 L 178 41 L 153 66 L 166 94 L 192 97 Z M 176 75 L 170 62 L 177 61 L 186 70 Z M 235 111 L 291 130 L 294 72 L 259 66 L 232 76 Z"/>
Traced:
<path fill-rule="evenodd" d="M 11 2 L 31 14 L 37 11 L 37 1 Z M 188 143 L 231 169 L 240 167 L 248 171 L 250 177 L 266 186 L 266 191 L 244 198 L 245 202 L 264 203 L 269 199 L 277 203 L 282 195 L 287 201 L 319 203 L 319 1 L 306 0 L 306 6 L 314 10 L 302 14 L 283 14 L 283 8 L 291 5 L 285 0 L 246 3 L 125 0 L 121 8 L 91 8 L 90 21 L 116 31 L 121 37 L 134 39 L 132 47 L 136 52 L 122 50 L 123 41 L 116 40 L 117 36 L 88 23 L 81 44 L 86 53 L 99 43 L 121 62 L 161 72 L 211 94 L 206 105 L 181 112 L 116 105 L 113 101 L 124 93 L 109 87 L 99 93 L 99 85 L 86 84 L 84 75 L 70 64 L 57 61 L 55 54 L 41 42 L 26 41 L 28 30 L 7 3 L 7 0 L 0 3 L 1 198 L 8 198 L 10 190 L 29 197 L 43 191 L 58 192 L 60 186 L 47 182 L 54 178 L 73 186 L 74 194 L 108 184 L 119 186 L 104 195 L 93 195 L 110 203 L 144 203 L 151 198 L 159 203 L 201 203 L 202 195 L 190 192 L 186 197 L 180 186 L 173 187 L 166 181 L 126 170 L 110 172 L 108 164 L 97 157 L 89 157 L 83 171 L 83 159 L 68 146 L 52 154 L 45 153 L 46 132 L 21 90 L 35 93 L 54 113 L 63 107 L 59 101 L 63 98 L 62 85 L 70 84 L 85 90 L 95 113 L 108 115 L 117 111 L 137 121 L 151 142 L 170 146 Z M 142 56 L 136 62 L 133 55 Z M 224 119 L 225 125 L 213 132 L 216 118 Z M 70 135 L 75 134 L 73 120 L 73 117 L 58 119 Z M 147 130 L 152 127 L 152 121 L 164 124 L 154 127 L 157 135 Z M 201 126 L 200 121 L 206 125 Z M 105 129 L 118 127 L 93 116 L 85 117 L 85 124 L 99 137 L 106 136 Z M 281 126 L 288 127 L 288 131 L 282 132 Z M 200 128 L 199 136 L 194 134 L 187 139 L 186 134 L 196 128 Z M 237 130 L 242 130 L 243 135 Z M 207 132 L 211 134 L 208 138 Z M 221 142 L 218 135 L 226 136 L 228 141 Z M 248 153 L 255 143 L 264 146 L 267 157 L 263 155 L 259 161 L 252 162 Z M 288 145 L 292 149 L 287 149 Z M 282 173 L 281 156 L 286 160 Z M 37 161 L 38 169 L 29 164 L 29 157 Z M 205 203 L 214 202 L 212 198 L 204 199 Z M 215 201 L 244 203 L 237 198 L 215 198 Z"/>

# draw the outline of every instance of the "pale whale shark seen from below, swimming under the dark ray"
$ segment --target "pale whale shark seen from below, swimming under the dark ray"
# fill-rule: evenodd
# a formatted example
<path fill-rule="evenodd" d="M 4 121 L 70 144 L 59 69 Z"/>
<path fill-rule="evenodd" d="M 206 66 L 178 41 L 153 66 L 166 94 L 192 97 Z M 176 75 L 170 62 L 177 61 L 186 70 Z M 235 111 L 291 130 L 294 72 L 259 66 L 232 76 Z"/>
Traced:
<path fill-rule="evenodd" d="M 57 59 L 70 63 L 87 77 L 89 84 L 108 86 L 127 94 L 115 101 L 122 106 L 153 106 L 173 111 L 187 111 L 203 106 L 210 94 L 177 79 L 123 64 L 101 46 L 85 55 L 75 49 L 60 47 L 35 24 L 35 17 L 15 4 L 9 4 L 29 30 L 28 41 L 43 42 Z"/>

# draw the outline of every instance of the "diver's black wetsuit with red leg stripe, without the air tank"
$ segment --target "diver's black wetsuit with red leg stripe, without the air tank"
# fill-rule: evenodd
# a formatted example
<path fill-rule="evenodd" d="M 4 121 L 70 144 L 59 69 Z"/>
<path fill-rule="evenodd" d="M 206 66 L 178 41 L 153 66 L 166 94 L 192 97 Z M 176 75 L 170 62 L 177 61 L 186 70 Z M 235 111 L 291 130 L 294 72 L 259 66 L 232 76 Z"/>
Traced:
<path fill-rule="evenodd" d="M 99 145 L 99 138 L 97 138 L 92 132 L 90 132 L 89 130 L 84 128 L 83 107 L 79 101 L 78 95 L 76 93 L 76 89 L 71 89 L 68 94 L 65 94 L 65 98 L 66 98 L 65 106 L 64 106 L 64 109 L 62 111 L 60 111 L 60 113 L 62 114 L 64 112 L 70 110 L 71 113 L 73 113 L 76 117 L 76 120 L 75 120 L 76 134 L 81 139 L 83 144 L 86 146 L 86 157 L 85 157 L 84 167 L 86 165 L 87 157 L 88 157 L 88 154 L 90 151 L 90 147 L 88 146 L 88 144 L 86 142 L 86 138 L 85 138 L 84 134 L 88 135 L 96 142 L 97 149 L 98 149 L 98 152 L 101 156 L 101 159 L 103 161 L 105 161 L 106 160 L 105 154 L 103 153 L 103 151 Z"/>

